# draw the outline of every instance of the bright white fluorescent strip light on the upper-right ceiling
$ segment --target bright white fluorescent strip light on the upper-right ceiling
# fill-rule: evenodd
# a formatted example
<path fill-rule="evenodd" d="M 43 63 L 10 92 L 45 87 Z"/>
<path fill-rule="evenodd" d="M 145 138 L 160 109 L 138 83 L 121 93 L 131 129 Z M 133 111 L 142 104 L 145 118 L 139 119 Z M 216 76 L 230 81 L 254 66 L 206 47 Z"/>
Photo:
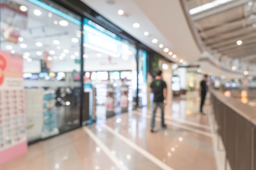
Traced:
<path fill-rule="evenodd" d="M 230 2 L 230 1 L 232 1 L 232 0 L 214 0 L 214 1 L 209 2 L 207 4 L 203 4 L 203 5 L 199 6 L 199 7 L 195 7 L 193 9 L 190 9 L 189 13 L 191 15 L 194 15 L 196 13 L 200 13 L 202 11 L 206 11 L 208 9 L 217 7 L 217 6 L 221 5 L 221 4 L 225 4 L 225 3 Z"/>

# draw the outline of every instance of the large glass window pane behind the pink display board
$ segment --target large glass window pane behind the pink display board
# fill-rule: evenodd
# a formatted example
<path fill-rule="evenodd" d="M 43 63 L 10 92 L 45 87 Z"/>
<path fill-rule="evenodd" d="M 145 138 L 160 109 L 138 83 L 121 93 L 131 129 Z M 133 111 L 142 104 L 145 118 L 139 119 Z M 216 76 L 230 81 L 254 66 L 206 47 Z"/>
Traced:
<path fill-rule="evenodd" d="M 0 52 L 23 59 L 29 142 L 80 126 L 81 22 L 65 11 L 1 0 Z"/>

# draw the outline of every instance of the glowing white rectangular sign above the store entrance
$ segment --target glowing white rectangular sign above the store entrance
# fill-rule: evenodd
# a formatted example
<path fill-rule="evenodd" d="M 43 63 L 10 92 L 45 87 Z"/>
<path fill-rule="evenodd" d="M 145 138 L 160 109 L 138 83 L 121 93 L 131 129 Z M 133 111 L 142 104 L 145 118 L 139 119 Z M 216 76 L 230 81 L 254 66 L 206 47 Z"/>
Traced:
<path fill-rule="evenodd" d="M 120 57 L 121 41 L 115 39 L 109 34 L 102 33 L 102 31 L 99 31 L 90 25 L 85 25 L 84 29 L 85 47 L 97 50 L 113 57 Z"/>

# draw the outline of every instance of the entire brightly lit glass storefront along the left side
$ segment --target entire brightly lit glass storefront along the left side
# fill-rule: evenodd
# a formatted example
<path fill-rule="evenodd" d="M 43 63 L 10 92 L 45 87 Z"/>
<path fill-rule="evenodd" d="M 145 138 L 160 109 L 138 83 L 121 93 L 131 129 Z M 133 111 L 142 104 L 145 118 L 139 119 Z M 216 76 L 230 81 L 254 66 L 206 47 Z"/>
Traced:
<path fill-rule="evenodd" d="M 13 134 L 33 143 L 147 105 L 145 50 L 51 0 L 0 3 L 0 134 L 2 122 L 16 124 L 0 146 Z"/>

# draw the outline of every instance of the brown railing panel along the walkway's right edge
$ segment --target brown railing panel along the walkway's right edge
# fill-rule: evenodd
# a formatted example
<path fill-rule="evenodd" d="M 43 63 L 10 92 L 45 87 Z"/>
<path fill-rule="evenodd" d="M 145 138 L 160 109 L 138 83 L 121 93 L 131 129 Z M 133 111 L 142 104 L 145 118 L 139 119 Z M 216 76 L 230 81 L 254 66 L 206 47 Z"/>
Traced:
<path fill-rule="evenodd" d="M 232 170 L 256 170 L 256 107 L 211 89 L 213 113 Z"/>

